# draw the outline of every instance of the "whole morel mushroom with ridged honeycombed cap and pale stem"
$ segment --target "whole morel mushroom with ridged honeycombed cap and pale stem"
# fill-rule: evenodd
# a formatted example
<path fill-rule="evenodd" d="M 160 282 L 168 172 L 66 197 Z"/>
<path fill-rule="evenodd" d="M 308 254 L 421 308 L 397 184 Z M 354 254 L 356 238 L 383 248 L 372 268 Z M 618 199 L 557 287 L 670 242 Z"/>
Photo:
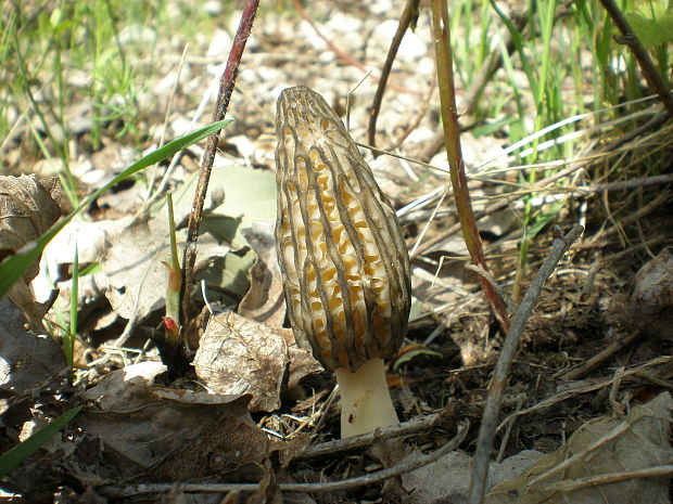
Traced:
<path fill-rule="evenodd" d="M 411 287 L 395 211 L 318 93 L 282 91 L 276 131 L 276 243 L 296 340 L 335 372 L 343 438 L 397 424 L 383 359 L 406 334 Z"/>

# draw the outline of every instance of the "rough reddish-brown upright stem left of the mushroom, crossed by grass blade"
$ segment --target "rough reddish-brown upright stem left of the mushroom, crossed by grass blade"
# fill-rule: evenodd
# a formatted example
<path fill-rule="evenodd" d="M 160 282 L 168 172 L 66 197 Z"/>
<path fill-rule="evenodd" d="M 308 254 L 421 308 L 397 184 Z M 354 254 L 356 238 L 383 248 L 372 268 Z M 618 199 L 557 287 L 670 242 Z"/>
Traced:
<path fill-rule="evenodd" d="M 239 65 L 241 64 L 241 56 L 245 50 L 245 42 L 247 42 L 247 38 L 250 37 L 253 20 L 255 18 L 255 13 L 257 12 L 258 5 L 259 0 L 245 1 L 245 7 L 241 13 L 241 21 L 236 31 L 233 43 L 231 44 L 231 51 L 229 52 L 229 59 L 227 60 L 227 67 L 225 68 L 219 81 L 219 91 L 217 92 L 217 103 L 215 111 L 213 112 L 213 121 L 224 119 L 227 114 L 229 100 L 231 99 L 231 93 L 236 85 L 236 78 L 239 73 Z M 201 163 L 201 172 L 199 175 L 196 192 L 194 193 L 192 210 L 189 216 L 187 246 L 185 247 L 185 256 L 182 260 L 185 279 L 182 284 L 182 321 L 185 325 L 187 325 L 189 315 L 189 290 L 194 276 L 196 241 L 199 238 L 199 228 L 201 227 L 201 219 L 203 217 L 203 204 L 208 189 L 211 170 L 213 169 L 213 161 L 215 160 L 215 152 L 217 151 L 218 142 L 219 132 L 208 138 L 203 161 Z"/>

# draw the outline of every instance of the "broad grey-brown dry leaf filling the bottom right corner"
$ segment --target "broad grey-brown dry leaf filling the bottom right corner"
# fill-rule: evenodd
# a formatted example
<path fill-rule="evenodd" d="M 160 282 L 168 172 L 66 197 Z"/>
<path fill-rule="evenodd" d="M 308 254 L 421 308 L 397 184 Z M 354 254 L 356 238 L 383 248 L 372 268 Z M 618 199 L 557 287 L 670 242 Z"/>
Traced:
<path fill-rule="evenodd" d="M 673 399 L 663 392 L 633 408 L 625 419 L 605 416 L 587 422 L 559 450 L 491 490 L 485 503 L 670 502 L 668 477 L 636 478 L 628 474 L 673 462 L 671 410 Z M 623 478 L 586 483 L 589 478 L 614 474 Z"/>

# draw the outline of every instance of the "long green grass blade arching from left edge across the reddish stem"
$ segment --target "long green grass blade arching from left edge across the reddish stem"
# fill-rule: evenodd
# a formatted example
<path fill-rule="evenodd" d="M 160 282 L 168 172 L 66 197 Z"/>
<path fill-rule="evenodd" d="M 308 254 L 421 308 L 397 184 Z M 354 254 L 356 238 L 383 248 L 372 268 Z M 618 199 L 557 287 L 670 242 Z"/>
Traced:
<path fill-rule="evenodd" d="M 165 159 L 168 156 L 173 156 L 178 151 L 181 151 L 189 145 L 203 140 L 206 137 L 215 133 L 220 130 L 233 119 L 223 119 L 217 122 L 213 122 L 212 125 L 205 126 L 196 131 L 193 131 L 185 137 L 174 140 L 173 142 L 167 143 L 161 148 L 148 154 L 142 159 L 134 163 L 127 169 L 125 169 L 122 173 L 117 175 L 110 182 L 103 185 L 101 189 L 91 194 L 88 198 L 86 198 L 79 207 L 68 214 L 66 217 L 56 222 L 49 231 L 47 231 L 43 235 L 37 238 L 31 244 L 28 244 L 24 248 L 22 248 L 17 254 L 7 259 L 4 262 L 0 263 L 0 297 L 7 295 L 10 290 L 10 287 L 16 282 L 23 272 L 33 263 L 33 261 L 37 260 L 42 250 L 47 246 L 47 244 L 63 229 L 65 225 L 73 220 L 73 218 L 79 214 L 84 208 L 89 206 L 97 197 L 99 197 L 102 193 L 107 191 L 113 185 L 122 182 L 123 180 L 128 179 L 130 176 L 137 173 L 138 171 L 152 166 L 162 159 Z"/>

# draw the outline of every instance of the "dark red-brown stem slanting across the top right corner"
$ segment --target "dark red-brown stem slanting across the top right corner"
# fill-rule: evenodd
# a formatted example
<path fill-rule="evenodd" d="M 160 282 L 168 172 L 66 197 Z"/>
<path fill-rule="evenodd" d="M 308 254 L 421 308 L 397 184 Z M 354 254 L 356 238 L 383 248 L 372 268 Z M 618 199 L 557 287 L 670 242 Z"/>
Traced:
<path fill-rule="evenodd" d="M 652 63 L 649 53 L 640 43 L 640 40 L 636 36 L 636 34 L 631 29 L 626 17 L 622 14 L 619 7 L 614 3 L 613 0 L 600 0 L 602 3 L 602 8 L 608 12 L 608 15 L 612 18 L 612 23 L 622 33 L 622 37 L 615 37 L 615 40 L 619 43 L 624 43 L 631 48 L 633 55 L 636 56 L 638 61 L 638 66 L 640 67 L 640 72 L 645 76 L 645 80 L 649 85 L 650 89 L 659 94 L 661 102 L 665 109 L 673 116 L 673 94 L 671 94 L 671 90 L 666 89 L 666 83 L 663 78 L 657 72 L 655 64 Z"/>

